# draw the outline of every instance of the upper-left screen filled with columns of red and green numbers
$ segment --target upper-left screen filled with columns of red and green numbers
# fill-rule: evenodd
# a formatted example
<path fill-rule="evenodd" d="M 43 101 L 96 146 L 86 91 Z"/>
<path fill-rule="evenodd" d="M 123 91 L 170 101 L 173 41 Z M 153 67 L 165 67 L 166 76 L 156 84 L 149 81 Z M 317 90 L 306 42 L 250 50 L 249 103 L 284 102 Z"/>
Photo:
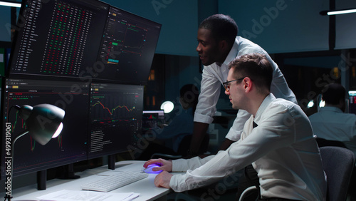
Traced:
<path fill-rule="evenodd" d="M 23 1 L 10 75 L 85 76 L 95 63 L 108 7 L 100 1 Z"/>

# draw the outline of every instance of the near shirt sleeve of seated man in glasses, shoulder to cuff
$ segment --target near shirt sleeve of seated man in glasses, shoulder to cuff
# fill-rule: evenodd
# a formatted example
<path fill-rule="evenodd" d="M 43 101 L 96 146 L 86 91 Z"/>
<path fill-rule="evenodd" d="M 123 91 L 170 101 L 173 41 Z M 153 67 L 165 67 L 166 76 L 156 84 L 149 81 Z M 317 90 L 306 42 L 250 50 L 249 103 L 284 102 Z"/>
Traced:
<path fill-rule="evenodd" d="M 293 125 L 283 123 L 286 110 L 270 112 L 266 123 L 258 125 L 244 140 L 233 143 L 226 151 L 219 152 L 199 168 L 187 170 L 183 175 L 173 175 L 169 186 L 176 192 L 182 192 L 209 185 L 234 174 L 271 150 L 293 143 L 295 134 L 291 130 L 294 129 L 288 128 Z"/>

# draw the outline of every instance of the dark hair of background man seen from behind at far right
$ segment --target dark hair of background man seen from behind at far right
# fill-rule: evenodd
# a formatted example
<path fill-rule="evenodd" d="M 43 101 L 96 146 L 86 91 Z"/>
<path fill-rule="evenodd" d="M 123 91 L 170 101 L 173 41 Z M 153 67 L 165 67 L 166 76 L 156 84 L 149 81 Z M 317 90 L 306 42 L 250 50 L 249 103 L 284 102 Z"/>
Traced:
<path fill-rule="evenodd" d="M 346 90 L 339 83 L 330 83 L 323 88 L 323 100 L 327 104 L 337 105 L 346 98 Z"/>

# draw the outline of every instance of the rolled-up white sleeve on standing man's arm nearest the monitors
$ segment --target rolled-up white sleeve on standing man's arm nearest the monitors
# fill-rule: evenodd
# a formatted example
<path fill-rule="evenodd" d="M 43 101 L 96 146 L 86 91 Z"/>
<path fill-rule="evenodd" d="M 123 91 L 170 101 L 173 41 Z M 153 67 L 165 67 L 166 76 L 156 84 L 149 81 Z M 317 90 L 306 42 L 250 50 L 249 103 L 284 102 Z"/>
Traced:
<path fill-rule="evenodd" d="M 194 121 L 201 123 L 213 122 L 216 113 L 216 103 L 219 100 L 221 83 L 216 76 L 204 66 L 201 78 L 199 102 L 194 113 Z"/>

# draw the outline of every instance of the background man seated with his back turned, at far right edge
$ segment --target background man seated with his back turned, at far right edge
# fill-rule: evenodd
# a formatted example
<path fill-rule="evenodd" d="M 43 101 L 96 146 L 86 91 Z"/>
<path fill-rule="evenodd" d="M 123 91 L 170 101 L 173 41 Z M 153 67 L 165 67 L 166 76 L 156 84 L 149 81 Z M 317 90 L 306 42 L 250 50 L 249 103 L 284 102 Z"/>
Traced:
<path fill-rule="evenodd" d="M 331 83 L 323 89 L 325 107 L 309 116 L 317 138 L 344 143 L 356 155 L 356 115 L 344 113 L 346 90 L 338 83 Z"/>

